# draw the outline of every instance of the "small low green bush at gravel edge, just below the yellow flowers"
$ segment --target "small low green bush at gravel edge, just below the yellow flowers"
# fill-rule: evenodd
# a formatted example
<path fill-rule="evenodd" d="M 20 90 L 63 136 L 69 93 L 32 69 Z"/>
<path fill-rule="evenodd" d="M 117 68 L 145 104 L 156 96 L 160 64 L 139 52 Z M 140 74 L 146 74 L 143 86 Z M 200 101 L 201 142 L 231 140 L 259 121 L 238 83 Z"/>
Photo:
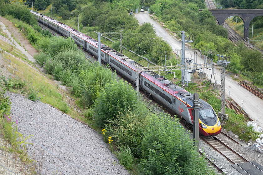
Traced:
<path fill-rule="evenodd" d="M 127 170 L 132 169 L 133 165 L 133 156 L 131 149 L 128 146 L 120 146 L 120 151 L 117 152 L 117 158 L 121 165 L 127 168 Z"/>

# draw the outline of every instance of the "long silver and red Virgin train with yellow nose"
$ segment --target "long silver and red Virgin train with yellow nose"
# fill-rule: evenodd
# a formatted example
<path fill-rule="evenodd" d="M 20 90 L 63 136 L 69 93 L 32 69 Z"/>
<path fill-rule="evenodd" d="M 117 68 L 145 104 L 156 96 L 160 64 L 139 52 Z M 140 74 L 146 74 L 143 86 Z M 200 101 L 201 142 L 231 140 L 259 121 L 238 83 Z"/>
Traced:
<path fill-rule="evenodd" d="M 55 19 L 44 16 L 31 10 L 33 16 L 45 26 L 59 32 L 65 37 L 71 37 L 90 54 L 98 57 L 98 41 L 85 35 L 74 28 L 67 26 Z M 163 76 L 143 68 L 143 66 L 116 50 L 101 44 L 101 61 L 116 70 L 132 84 L 136 82 L 136 72 L 139 73 L 139 88 L 146 95 L 152 97 L 163 107 L 185 123 L 193 125 L 193 94 L 171 83 Z M 215 136 L 221 131 L 221 124 L 214 109 L 204 100 L 199 99 L 199 133 L 204 136 Z"/>

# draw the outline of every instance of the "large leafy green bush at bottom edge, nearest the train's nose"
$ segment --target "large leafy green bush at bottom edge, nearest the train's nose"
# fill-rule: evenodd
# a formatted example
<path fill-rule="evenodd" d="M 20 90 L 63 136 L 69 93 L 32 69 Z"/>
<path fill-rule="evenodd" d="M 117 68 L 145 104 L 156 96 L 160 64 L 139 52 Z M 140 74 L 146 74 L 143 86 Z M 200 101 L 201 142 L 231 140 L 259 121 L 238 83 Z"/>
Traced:
<path fill-rule="evenodd" d="M 159 114 L 142 141 L 141 174 L 206 174 L 192 139 L 176 120 Z"/>

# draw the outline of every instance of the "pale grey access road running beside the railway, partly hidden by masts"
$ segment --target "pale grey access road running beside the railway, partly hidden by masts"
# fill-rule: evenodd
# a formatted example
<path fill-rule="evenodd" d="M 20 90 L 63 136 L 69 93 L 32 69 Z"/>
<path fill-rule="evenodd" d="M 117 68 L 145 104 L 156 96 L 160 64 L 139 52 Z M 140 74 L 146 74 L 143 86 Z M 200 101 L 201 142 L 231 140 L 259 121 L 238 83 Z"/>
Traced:
<path fill-rule="evenodd" d="M 139 20 L 139 23 L 142 24 L 144 22 L 150 22 L 158 36 L 162 37 L 165 41 L 167 41 L 173 50 L 181 49 L 181 43 L 173 37 L 170 33 L 168 33 L 157 21 L 153 20 L 148 12 L 139 12 L 135 15 L 135 17 Z M 200 54 L 200 53 L 199 53 Z M 220 53 L 219 53 L 220 54 Z M 193 50 L 185 51 L 185 58 L 193 58 L 194 56 Z M 197 58 L 197 63 L 200 63 L 200 56 Z M 202 60 L 204 63 L 204 60 Z M 206 76 L 208 79 L 211 77 L 211 70 L 204 69 Z M 221 82 L 220 69 L 215 69 L 215 82 Z M 214 78 L 212 77 L 212 81 L 214 82 Z M 263 100 L 256 97 L 254 94 L 247 91 L 245 88 L 241 87 L 237 81 L 233 80 L 229 75 L 225 75 L 225 94 L 226 98 L 232 98 L 238 103 L 240 106 L 243 106 L 245 112 L 255 121 L 258 120 L 258 125 L 263 128 Z"/>

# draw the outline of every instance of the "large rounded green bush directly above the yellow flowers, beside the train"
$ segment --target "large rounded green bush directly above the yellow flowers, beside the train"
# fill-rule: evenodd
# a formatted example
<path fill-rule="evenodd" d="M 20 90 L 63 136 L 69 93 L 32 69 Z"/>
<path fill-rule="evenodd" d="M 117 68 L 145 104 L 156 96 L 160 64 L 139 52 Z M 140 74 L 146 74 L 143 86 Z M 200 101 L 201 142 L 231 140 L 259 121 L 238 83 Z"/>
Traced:
<path fill-rule="evenodd" d="M 95 103 L 95 125 L 103 128 L 119 113 L 132 110 L 137 101 L 136 91 L 127 82 L 115 80 L 106 84 Z"/>

